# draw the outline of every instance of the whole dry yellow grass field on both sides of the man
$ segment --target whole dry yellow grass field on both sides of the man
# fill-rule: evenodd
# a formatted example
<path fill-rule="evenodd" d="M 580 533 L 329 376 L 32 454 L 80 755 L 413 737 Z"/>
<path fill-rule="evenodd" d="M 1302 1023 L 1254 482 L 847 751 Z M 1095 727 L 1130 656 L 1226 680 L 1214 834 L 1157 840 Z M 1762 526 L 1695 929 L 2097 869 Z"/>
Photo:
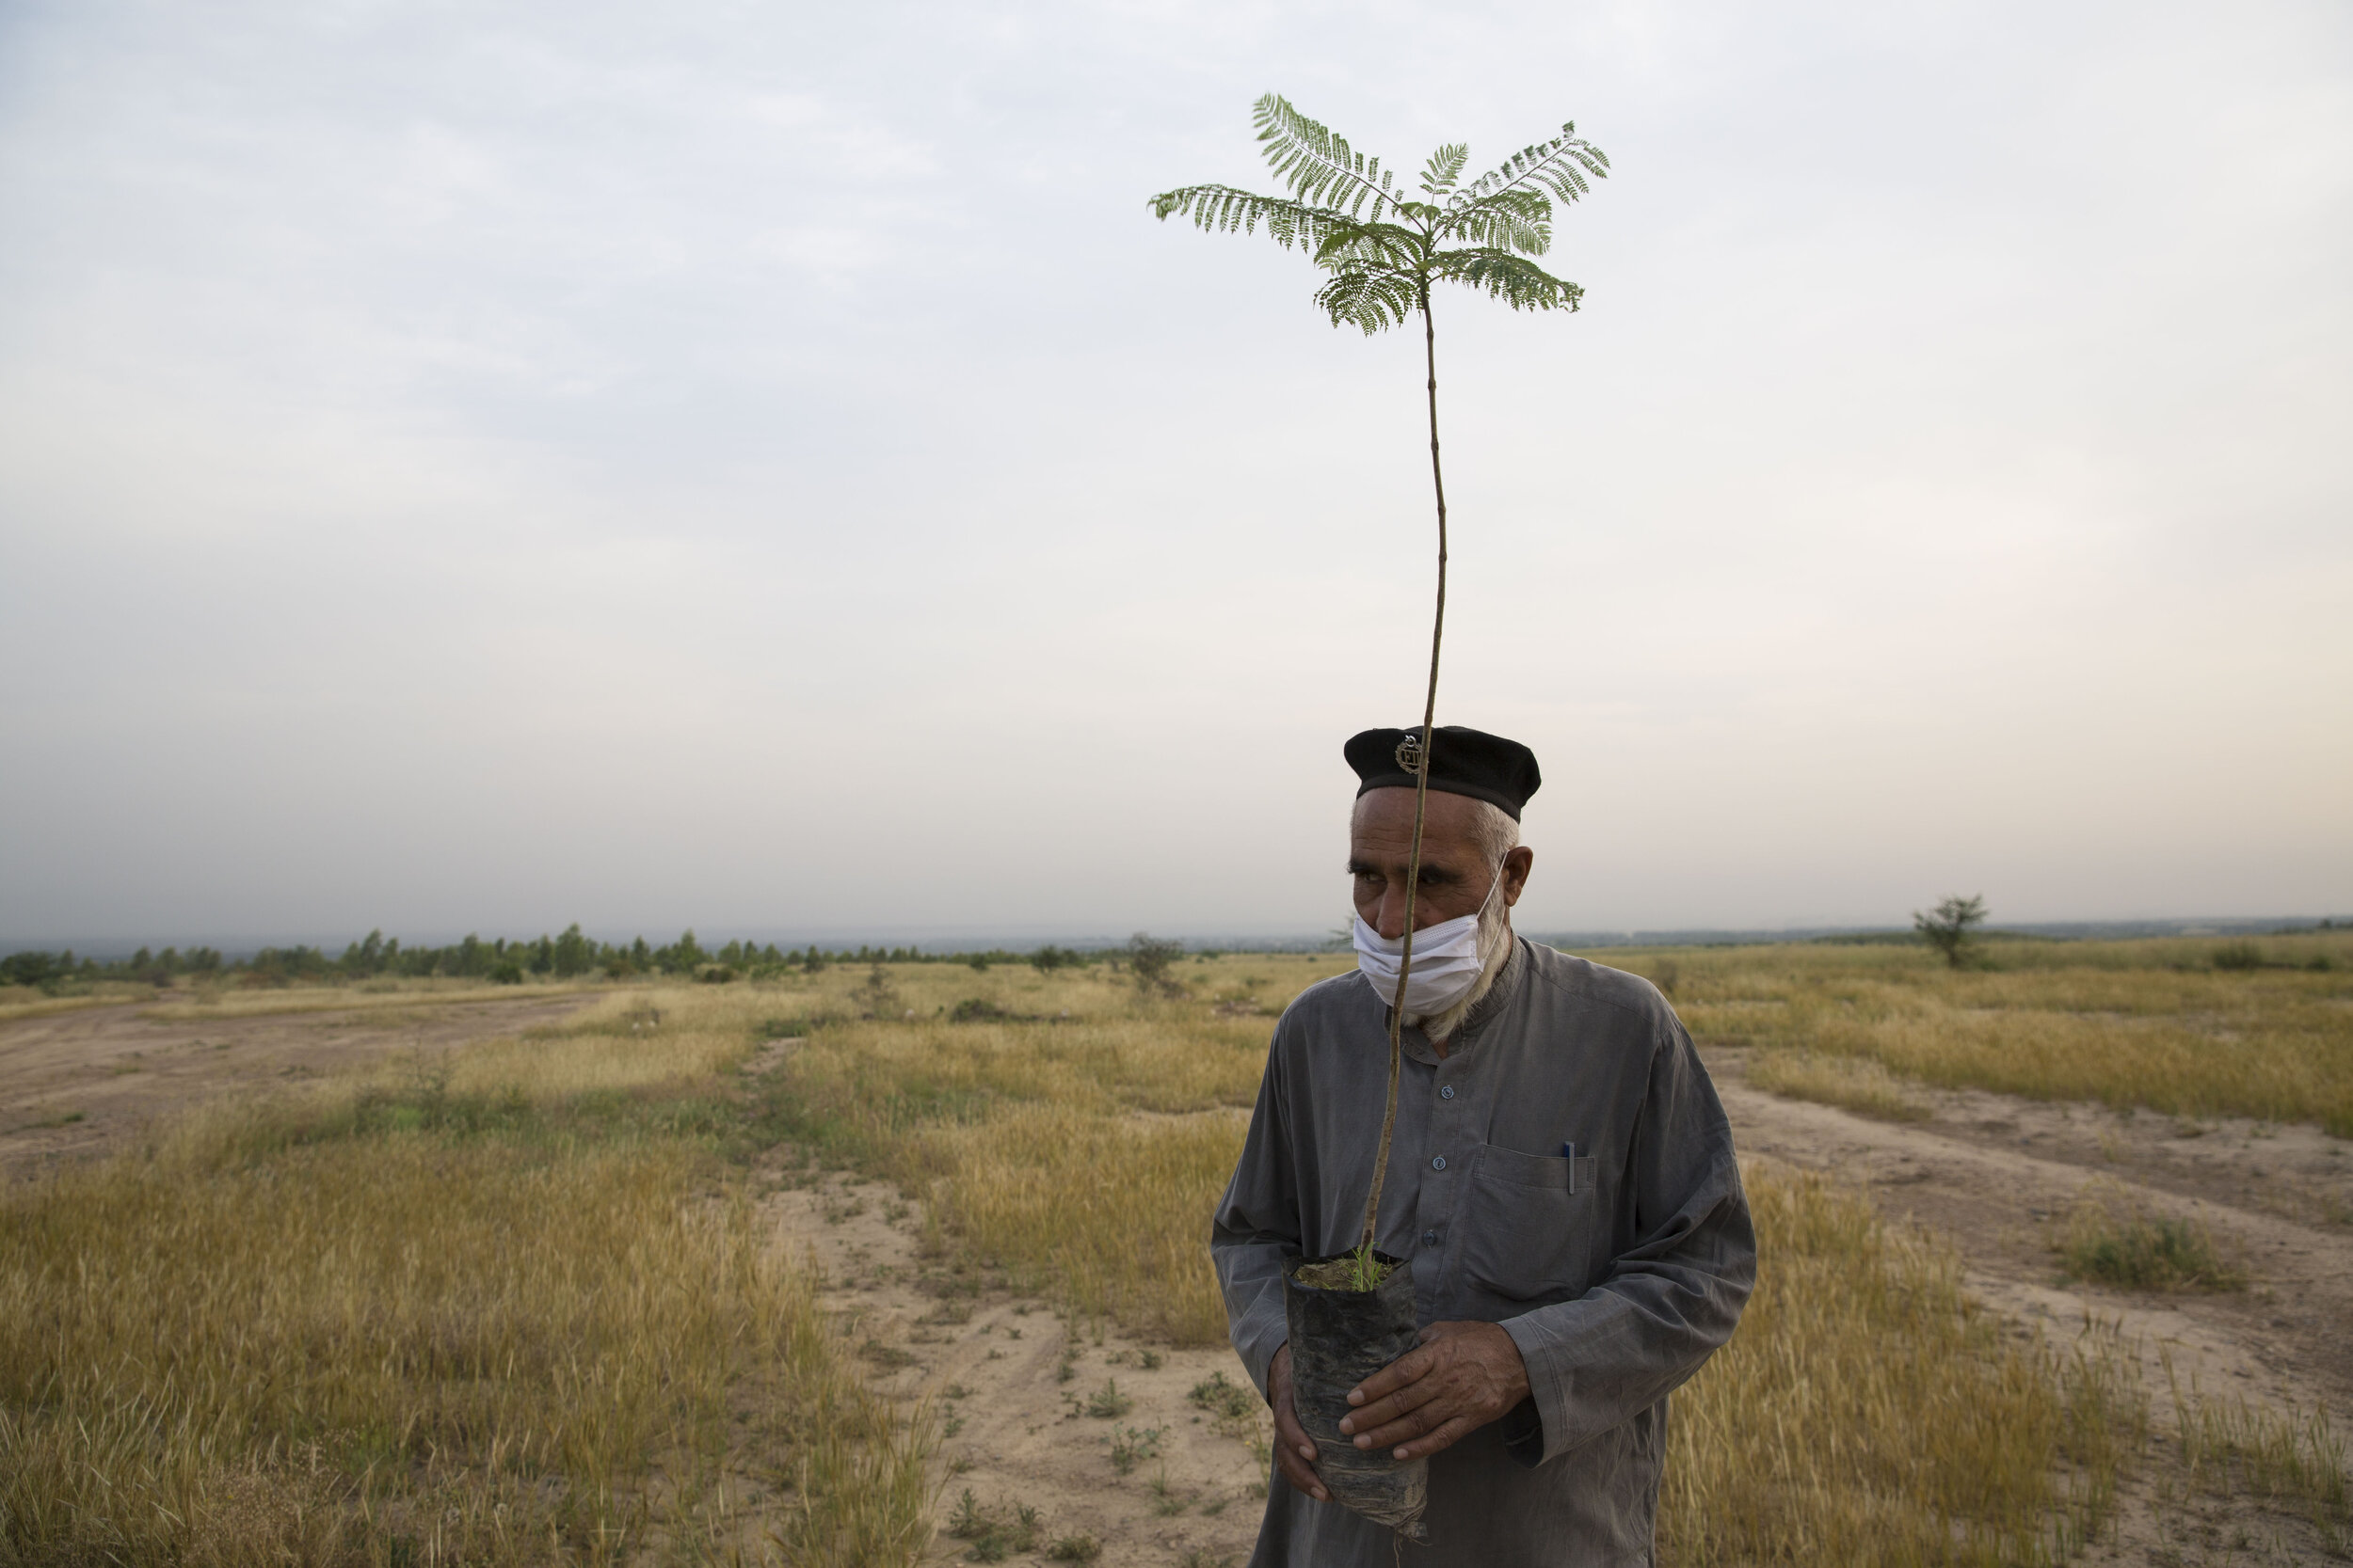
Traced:
<path fill-rule="evenodd" d="M 2353 940 L 2268 943 L 2280 969 L 2212 947 L 2000 943 L 1988 971 L 1904 947 L 1600 957 L 1671 987 L 1748 1084 L 1880 1121 L 1974 1086 L 2341 1133 Z M 955 1505 L 936 1401 L 878 1392 L 762 1232 L 776 1150 L 882 1178 L 929 1255 L 1056 1307 L 1073 1342 L 1099 1324 L 1214 1347 L 1207 1211 L 1268 1027 L 1346 961 L 1184 961 L 1186 994 L 1151 999 L 1104 969 L 944 964 L 602 987 L 560 1023 L 16 1180 L 0 1563 L 976 1549 L 934 1542 Z M 1758 1161 L 1751 1197 L 1760 1286 L 1678 1396 L 1664 1563 L 2066 1561 L 2113 1552 L 2120 1500 L 2151 1497 L 2348 1552 L 2325 1413 L 2151 1382 L 2113 1324 L 2028 1331 L 1852 1182 Z"/>

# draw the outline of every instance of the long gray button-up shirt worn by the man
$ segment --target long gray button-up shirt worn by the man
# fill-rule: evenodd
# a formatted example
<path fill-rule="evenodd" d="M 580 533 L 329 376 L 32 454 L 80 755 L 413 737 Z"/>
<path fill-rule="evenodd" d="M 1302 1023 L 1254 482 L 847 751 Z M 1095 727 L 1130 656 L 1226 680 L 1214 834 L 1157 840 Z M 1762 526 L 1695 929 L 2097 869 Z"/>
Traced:
<path fill-rule="evenodd" d="M 1346 973 L 1275 1025 L 1209 1253 L 1266 1392 L 1282 1258 L 1355 1246 L 1388 1009 Z M 1649 1563 L 1666 1394 L 1732 1338 L 1755 1232 L 1692 1037 L 1640 976 L 1518 940 L 1440 1060 L 1405 1030 L 1381 1251 L 1424 1324 L 1501 1324 L 1532 1396 L 1431 1460 L 1424 1547 L 1275 1472 L 1254 1568 Z"/>

